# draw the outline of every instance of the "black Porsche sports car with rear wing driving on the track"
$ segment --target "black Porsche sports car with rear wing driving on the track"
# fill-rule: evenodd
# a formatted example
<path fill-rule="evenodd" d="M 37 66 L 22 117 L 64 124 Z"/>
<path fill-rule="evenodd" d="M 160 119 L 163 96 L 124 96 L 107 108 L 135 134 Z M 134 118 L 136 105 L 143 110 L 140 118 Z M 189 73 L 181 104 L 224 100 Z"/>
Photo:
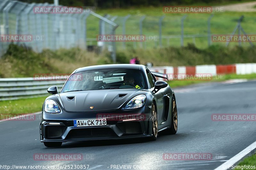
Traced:
<path fill-rule="evenodd" d="M 144 65 L 109 64 L 76 69 L 58 93 L 42 107 L 40 138 L 46 147 L 63 142 L 148 137 L 175 134 L 178 116 L 175 95 L 166 74 Z"/>

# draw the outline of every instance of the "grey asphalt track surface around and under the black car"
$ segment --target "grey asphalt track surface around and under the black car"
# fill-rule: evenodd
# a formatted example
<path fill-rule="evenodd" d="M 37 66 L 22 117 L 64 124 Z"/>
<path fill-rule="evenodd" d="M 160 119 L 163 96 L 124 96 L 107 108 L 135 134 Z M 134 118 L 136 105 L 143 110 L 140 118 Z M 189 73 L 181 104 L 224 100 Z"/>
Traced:
<path fill-rule="evenodd" d="M 215 122 L 212 114 L 255 114 L 256 81 L 207 83 L 177 88 L 178 132 L 153 142 L 101 140 L 63 143 L 46 148 L 35 121 L 0 122 L 0 165 L 139 165 L 144 169 L 214 169 L 256 141 L 255 122 Z M 35 153 L 81 153 L 80 161 L 37 161 Z M 164 153 L 211 153 L 211 160 L 164 160 Z M 111 166 L 112 165 L 112 166 Z M 112 168 L 111 168 L 112 167 Z"/>

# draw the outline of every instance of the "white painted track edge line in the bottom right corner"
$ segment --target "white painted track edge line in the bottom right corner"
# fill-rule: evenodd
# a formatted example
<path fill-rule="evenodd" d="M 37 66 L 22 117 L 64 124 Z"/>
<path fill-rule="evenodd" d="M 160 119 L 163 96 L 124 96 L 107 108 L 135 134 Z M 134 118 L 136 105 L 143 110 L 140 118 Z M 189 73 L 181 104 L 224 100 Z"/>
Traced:
<path fill-rule="evenodd" d="M 241 159 L 251 156 L 256 150 L 256 141 L 253 142 L 250 146 L 245 148 L 243 151 L 236 154 L 233 158 L 229 159 L 224 164 L 220 165 L 219 167 L 215 168 L 214 170 L 226 170 L 232 165 L 235 166 Z"/>

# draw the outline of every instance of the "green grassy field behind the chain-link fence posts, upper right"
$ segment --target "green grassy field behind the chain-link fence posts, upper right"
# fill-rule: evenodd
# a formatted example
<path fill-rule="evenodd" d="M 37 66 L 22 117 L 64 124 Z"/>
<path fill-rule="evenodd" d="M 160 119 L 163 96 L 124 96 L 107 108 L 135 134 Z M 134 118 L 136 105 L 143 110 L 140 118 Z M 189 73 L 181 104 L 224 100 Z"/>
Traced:
<path fill-rule="evenodd" d="M 201 5 L 202 6 L 202 5 Z M 184 20 L 184 35 L 186 34 L 206 34 L 207 35 L 207 20 L 211 16 L 209 13 L 163 13 L 163 7 L 134 7 L 130 9 L 105 9 L 96 10 L 100 15 L 109 14 L 112 18 L 118 16 L 114 21 L 119 26 L 116 29 L 116 34 L 122 34 L 123 32 L 123 20 L 124 16 L 131 14 L 132 16 L 126 21 L 126 34 L 139 34 L 139 20 L 140 17 L 146 15 L 147 17 L 143 20 L 142 32 L 146 36 L 158 36 L 159 35 L 159 18 L 165 15 L 162 21 L 162 35 L 180 35 L 181 34 L 181 18 L 187 15 Z M 225 11 L 221 13 L 214 13 L 214 17 L 211 20 L 211 33 L 212 34 L 231 34 L 237 25 L 238 19 L 244 15 L 244 19 L 241 26 L 247 34 L 255 34 L 255 12 L 233 12 Z M 95 22 L 97 21 L 97 22 Z M 88 38 L 95 38 L 99 34 L 99 19 L 94 16 L 89 16 L 87 18 L 87 33 Z M 106 29 L 106 34 L 111 34 L 110 29 Z M 237 32 L 236 32 L 237 34 Z M 207 47 L 208 38 L 198 37 L 198 38 L 185 38 L 184 45 L 187 43 L 195 43 L 198 48 Z M 96 41 L 92 41 L 92 44 L 96 45 Z M 122 49 L 123 42 L 116 42 L 117 49 Z M 144 48 L 153 48 L 158 46 L 158 41 L 146 41 L 143 42 Z M 225 42 L 212 42 L 212 44 L 225 45 Z M 237 42 L 230 42 L 229 46 L 237 45 Z M 255 42 L 253 42 L 256 45 Z M 162 45 L 164 47 L 171 45 L 173 47 L 180 46 L 180 39 L 173 38 L 168 41 L 168 39 L 162 40 Z M 248 42 L 242 43 L 243 46 L 250 46 Z M 140 42 L 126 42 L 127 48 L 140 47 Z"/>

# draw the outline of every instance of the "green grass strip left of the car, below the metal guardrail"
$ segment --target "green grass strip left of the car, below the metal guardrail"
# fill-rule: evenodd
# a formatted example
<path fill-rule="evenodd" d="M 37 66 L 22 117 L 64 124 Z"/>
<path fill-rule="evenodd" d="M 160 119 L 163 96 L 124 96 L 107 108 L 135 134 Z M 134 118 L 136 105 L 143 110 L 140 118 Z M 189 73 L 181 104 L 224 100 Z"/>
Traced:
<path fill-rule="evenodd" d="M 39 112 L 42 110 L 42 105 L 46 97 L 0 101 L 0 119 L 8 115 L 23 115 Z"/>

